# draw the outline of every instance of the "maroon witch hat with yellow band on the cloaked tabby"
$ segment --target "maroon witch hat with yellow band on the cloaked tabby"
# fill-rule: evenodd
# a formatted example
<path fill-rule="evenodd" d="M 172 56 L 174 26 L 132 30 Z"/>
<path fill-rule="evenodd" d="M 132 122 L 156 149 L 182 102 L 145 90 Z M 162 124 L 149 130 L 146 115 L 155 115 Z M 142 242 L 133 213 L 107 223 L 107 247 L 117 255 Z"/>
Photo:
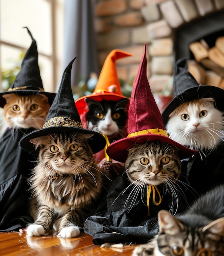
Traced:
<path fill-rule="evenodd" d="M 191 150 L 168 137 L 160 110 L 149 86 L 146 67 L 145 44 L 142 61 L 131 93 L 127 126 L 128 136 L 111 143 L 106 153 L 116 161 L 125 162 L 128 149 L 131 146 L 143 144 L 146 141 L 161 141 L 176 146 L 179 149 L 180 159 L 196 154 L 197 151 Z"/>

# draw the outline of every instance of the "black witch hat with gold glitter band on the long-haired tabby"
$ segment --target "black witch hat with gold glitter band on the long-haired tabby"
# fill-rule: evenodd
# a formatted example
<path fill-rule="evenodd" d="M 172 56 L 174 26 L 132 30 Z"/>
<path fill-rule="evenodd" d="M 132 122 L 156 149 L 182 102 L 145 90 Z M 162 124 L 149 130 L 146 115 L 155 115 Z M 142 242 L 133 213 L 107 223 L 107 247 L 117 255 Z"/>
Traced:
<path fill-rule="evenodd" d="M 43 128 L 30 132 L 20 140 L 20 146 L 27 152 L 35 151 L 35 146 L 30 142 L 31 139 L 55 132 L 78 132 L 92 135 L 88 142 L 93 153 L 97 153 L 105 147 L 106 140 L 99 132 L 82 127 L 71 90 L 71 67 L 75 58 L 64 70 L 60 88 L 49 109 Z"/>

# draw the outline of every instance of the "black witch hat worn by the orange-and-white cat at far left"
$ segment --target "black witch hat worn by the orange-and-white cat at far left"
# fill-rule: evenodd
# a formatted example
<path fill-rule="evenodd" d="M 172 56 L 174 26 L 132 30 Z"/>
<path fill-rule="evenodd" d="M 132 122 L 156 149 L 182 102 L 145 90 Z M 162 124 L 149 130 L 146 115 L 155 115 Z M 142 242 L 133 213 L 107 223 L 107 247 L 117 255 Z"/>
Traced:
<path fill-rule="evenodd" d="M 7 92 L 0 93 L 0 107 L 3 108 L 6 100 L 2 97 L 4 94 L 17 93 L 22 95 L 27 94 L 44 94 L 48 97 L 51 105 L 55 93 L 44 92 L 42 79 L 40 77 L 40 69 L 38 66 L 38 50 L 35 39 L 27 27 L 25 27 L 31 36 L 32 43 L 27 50 L 21 64 L 21 70 L 16 76 L 15 81 Z"/>

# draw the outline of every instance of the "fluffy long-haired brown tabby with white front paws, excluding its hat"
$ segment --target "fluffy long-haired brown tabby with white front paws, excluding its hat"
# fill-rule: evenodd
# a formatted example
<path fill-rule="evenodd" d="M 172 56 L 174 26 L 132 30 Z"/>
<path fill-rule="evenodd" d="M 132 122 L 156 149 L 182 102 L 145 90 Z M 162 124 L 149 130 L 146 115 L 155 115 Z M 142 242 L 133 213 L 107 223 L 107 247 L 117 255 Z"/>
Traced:
<path fill-rule="evenodd" d="M 27 236 L 46 235 L 53 226 L 61 237 L 80 234 L 102 189 L 89 137 L 75 132 L 31 139 L 39 158 L 29 178 L 34 223 L 27 227 Z"/>

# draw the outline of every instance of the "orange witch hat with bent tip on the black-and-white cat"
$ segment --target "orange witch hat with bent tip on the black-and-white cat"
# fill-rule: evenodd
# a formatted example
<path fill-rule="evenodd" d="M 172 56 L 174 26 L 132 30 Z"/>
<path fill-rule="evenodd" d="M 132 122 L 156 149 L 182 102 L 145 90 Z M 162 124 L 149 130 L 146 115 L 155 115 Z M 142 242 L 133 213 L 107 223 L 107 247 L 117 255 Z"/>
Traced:
<path fill-rule="evenodd" d="M 104 61 L 104 65 L 93 93 L 80 97 L 75 101 L 76 108 L 78 109 L 80 115 L 88 110 L 88 106 L 85 102 L 86 98 L 91 98 L 95 101 L 118 101 L 124 98 L 129 99 L 122 94 L 115 63 L 116 60 L 128 56 L 132 56 L 132 54 L 118 49 L 114 49 L 112 52 L 110 52 Z"/>

